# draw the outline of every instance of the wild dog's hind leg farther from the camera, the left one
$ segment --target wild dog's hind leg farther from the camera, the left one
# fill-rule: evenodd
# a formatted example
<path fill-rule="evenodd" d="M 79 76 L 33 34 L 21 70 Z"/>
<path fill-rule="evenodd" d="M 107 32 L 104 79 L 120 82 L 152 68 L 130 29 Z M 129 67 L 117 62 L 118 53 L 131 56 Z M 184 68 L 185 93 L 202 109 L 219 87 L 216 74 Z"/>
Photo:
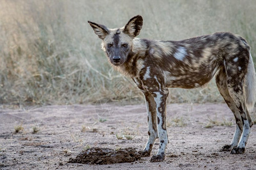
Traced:
<path fill-rule="evenodd" d="M 230 108 L 230 110 L 234 113 L 234 117 L 236 118 L 236 133 L 234 134 L 233 140 L 230 145 L 225 145 L 221 148 L 221 151 L 231 151 L 234 147 L 238 145 L 238 142 L 241 138 L 243 123 L 242 117 L 239 110 L 234 103 L 234 100 L 229 94 L 226 71 L 224 67 L 221 67 L 220 71 L 216 75 L 216 85 L 218 87 L 218 91 L 220 91 L 221 96 L 226 101 L 226 104 Z"/>

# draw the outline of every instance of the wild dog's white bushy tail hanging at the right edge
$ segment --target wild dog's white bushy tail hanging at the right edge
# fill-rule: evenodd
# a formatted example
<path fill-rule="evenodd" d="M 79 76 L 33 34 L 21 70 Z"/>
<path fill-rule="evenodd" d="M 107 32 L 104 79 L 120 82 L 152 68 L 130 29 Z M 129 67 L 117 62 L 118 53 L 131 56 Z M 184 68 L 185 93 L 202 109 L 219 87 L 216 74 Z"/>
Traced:
<path fill-rule="evenodd" d="M 255 95 L 256 95 L 256 78 L 255 78 L 255 70 L 253 64 L 253 57 L 249 59 L 249 65 L 246 75 L 246 106 L 249 112 L 253 111 L 254 103 L 255 103 Z"/>

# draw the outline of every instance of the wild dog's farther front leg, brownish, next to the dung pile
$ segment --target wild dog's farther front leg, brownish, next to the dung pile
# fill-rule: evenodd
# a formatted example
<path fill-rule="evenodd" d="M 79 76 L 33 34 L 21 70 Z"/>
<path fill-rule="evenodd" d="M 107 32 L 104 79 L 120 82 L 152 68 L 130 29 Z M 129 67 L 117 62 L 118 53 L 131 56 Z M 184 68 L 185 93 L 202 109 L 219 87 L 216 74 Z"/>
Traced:
<path fill-rule="evenodd" d="M 158 129 L 156 122 L 156 104 L 154 97 L 149 92 L 143 92 L 147 107 L 148 140 L 144 150 L 139 151 L 141 156 L 150 156 L 155 139 L 158 138 Z"/>

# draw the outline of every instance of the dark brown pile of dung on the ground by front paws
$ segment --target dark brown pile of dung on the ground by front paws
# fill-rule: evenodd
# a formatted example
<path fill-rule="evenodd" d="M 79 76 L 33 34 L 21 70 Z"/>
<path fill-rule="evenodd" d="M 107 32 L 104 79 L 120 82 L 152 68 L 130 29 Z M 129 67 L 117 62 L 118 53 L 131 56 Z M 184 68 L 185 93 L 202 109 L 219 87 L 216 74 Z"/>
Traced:
<path fill-rule="evenodd" d="M 135 148 L 123 148 L 113 150 L 110 148 L 92 147 L 86 151 L 80 152 L 76 158 L 70 158 L 68 163 L 82 164 L 115 164 L 124 162 L 134 162 L 140 160 L 141 155 Z"/>

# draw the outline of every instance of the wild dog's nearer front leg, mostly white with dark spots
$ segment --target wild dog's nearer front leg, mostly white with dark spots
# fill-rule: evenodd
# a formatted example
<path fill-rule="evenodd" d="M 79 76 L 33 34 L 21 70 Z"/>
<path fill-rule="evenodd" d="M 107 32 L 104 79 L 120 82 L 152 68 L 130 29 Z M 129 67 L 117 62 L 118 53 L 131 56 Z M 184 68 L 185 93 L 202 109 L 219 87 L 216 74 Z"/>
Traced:
<path fill-rule="evenodd" d="M 156 115 L 158 122 L 158 137 L 160 145 L 158 153 L 152 156 L 150 162 L 161 162 L 164 160 L 168 135 L 166 130 L 166 99 L 169 94 L 168 89 L 160 89 L 158 92 L 152 92 L 156 103 Z"/>

